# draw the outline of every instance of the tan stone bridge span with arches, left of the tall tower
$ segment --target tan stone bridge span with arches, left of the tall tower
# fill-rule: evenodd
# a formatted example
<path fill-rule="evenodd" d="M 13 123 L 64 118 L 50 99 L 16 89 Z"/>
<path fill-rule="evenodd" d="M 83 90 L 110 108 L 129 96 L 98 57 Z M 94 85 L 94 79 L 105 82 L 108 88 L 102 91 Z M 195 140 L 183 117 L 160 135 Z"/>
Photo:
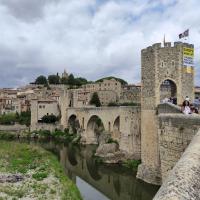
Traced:
<path fill-rule="evenodd" d="M 121 150 L 140 157 L 140 107 L 85 107 L 67 108 L 67 126 L 76 120 L 87 144 L 97 142 L 95 133 L 100 119 L 106 132 L 118 140 Z"/>

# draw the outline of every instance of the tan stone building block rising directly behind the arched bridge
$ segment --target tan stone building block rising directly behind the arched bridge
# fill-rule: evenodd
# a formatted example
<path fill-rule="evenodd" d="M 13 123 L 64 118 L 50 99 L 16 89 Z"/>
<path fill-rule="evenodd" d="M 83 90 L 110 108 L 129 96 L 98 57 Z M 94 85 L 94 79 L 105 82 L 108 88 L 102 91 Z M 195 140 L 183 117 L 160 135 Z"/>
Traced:
<path fill-rule="evenodd" d="M 69 90 L 71 107 L 87 107 L 94 92 L 98 93 L 102 106 L 109 103 L 140 103 L 140 85 L 122 85 L 115 79 L 83 85 L 82 88 Z"/>

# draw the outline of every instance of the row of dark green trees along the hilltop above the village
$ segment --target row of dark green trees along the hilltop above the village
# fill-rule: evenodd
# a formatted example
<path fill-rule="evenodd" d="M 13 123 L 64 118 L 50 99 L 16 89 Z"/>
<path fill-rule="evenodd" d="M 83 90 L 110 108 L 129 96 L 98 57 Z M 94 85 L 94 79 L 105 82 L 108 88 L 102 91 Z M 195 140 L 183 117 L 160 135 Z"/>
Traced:
<path fill-rule="evenodd" d="M 54 74 L 49 75 L 48 77 L 40 75 L 35 80 L 35 84 L 45 85 L 45 86 L 47 86 L 48 84 L 54 84 L 54 85 L 64 84 L 64 85 L 69 85 L 69 86 L 81 86 L 87 83 L 88 81 L 85 78 L 82 78 L 82 77 L 75 78 L 73 74 L 70 74 L 68 77 L 60 77 L 58 73 L 56 75 Z"/>

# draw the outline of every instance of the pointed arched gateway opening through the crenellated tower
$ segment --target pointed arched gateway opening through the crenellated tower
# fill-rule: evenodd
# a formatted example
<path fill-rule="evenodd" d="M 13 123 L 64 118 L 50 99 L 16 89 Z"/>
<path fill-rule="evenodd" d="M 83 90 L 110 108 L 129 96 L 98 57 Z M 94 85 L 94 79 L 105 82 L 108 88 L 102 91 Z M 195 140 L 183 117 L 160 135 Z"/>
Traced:
<path fill-rule="evenodd" d="M 160 101 L 170 97 L 177 98 L 177 86 L 173 80 L 166 79 L 160 85 Z"/>

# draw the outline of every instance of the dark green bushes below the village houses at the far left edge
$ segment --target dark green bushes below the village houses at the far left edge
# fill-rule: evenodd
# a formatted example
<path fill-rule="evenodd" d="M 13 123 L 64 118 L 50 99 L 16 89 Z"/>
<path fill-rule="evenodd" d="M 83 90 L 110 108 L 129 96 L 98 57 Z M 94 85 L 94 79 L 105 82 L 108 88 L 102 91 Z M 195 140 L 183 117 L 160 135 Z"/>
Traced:
<path fill-rule="evenodd" d="M 21 125 L 29 126 L 31 122 L 31 112 L 9 113 L 0 116 L 0 124 L 2 125 L 14 125 L 18 122 Z"/>

